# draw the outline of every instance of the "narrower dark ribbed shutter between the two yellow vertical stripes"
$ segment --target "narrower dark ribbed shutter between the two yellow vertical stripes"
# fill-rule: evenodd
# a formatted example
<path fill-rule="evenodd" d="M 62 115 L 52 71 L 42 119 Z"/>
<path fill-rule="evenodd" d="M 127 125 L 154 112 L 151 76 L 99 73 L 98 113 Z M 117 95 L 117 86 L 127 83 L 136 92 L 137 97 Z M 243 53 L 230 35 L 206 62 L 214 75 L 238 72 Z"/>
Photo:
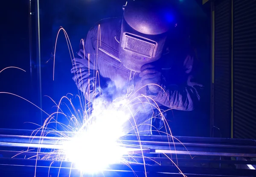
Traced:
<path fill-rule="evenodd" d="M 221 135 L 231 132 L 231 0 L 216 0 L 213 111 L 214 126 Z"/>

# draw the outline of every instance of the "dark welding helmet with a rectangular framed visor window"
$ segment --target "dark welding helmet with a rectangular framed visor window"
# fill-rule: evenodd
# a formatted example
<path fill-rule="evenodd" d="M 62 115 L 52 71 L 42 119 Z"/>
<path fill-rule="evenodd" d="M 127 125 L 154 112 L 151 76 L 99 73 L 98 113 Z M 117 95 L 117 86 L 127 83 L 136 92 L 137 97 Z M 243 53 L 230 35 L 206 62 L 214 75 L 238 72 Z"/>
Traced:
<path fill-rule="evenodd" d="M 176 25 L 175 13 L 161 0 L 128 1 L 123 10 L 119 58 L 126 68 L 140 72 L 165 51 L 167 33 Z"/>

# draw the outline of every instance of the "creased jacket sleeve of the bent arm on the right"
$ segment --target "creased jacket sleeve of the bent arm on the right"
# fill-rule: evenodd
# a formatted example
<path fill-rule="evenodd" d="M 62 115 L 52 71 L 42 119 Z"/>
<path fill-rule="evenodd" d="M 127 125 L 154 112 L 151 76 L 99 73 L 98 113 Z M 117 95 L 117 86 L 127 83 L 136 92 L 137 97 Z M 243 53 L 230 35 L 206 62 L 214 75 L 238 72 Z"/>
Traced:
<path fill-rule="evenodd" d="M 188 55 L 183 62 L 183 69 L 180 75 L 176 76 L 184 80 L 183 84 L 167 84 L 163 81 L 162 89 L 153 99 L 154 101 L 175 110 L 194 110 L 200 100 L 200 93 L 203 88 L 194 79 L 195 70 L 194 57 Z"/>

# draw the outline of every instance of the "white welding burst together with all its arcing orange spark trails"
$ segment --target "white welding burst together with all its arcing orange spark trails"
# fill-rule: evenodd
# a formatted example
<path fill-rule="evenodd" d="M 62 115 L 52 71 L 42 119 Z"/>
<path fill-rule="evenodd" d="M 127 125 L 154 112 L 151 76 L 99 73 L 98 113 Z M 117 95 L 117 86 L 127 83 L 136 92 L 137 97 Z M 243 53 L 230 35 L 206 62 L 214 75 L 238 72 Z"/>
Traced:
<path fill-rule="evenodd" d="M 53 55 L 54 67 L 55 67 L 56 46 L 57 46 L 57 40 L 58 40 L 60 31 L 64 32 L 65 38 L 67 40 L 67 45 L 68 45 L 68 50 L 70 52 L 71 60 L 75 59 L 67 32 L 64 30 L 64 28 L 61 27 L 60 30 L 58 31 L 56 42 L 55 42 L 55 51 Z M 100 35 L 100 25 L 99 25 L 97 45 L 101 45 L 100 37 L 101 35 Z M 84 46 L 83 40 L 81 40 L 81 43 Z M 96 52 L 98 52 L 98 50 L 96 50 Z M 85 57 L 86 56 L 84 55 L 84 58 Z M 90 54 L 88 54 L 87 58 L 88 58 L 88 65 L 90 65 Z M 96 53 L 96 63 L 97 63 L 97 60 L 98 60 L 98 53 Z M 97 64 L 94 65 L 94 67 L 96 66 Z M 97 70 L 97 68 L 94 68 L 94 69 Z M 1 70 L 0 73 L 3 70 Z M 79 69 L 76 68 L 76 70 L 79 70 Z M 53 69 L 53 79 L 55 74 L 54 72 L 55 70 Z M 88 72 L 90 72 L 90 69 L 88 69 Z M 93 75 L 94 74 L 96 75 L 96 78 L 99 79 L 99 72 L 93 73 Z M 90 79 L 88 78 L 88 83 L 90 84 L 89 81 Z M 143 146 L 140 140 L 140 134 L 143 134 L 143 132 L 139 131 L 138 127 L 147 123 L 143 122 L 141 124 L 137 124 L 137 120 L 135 118 L 137 112 L 136 111 L 134 112 L 134 107 L 140 107 L 140 109 L 143 109 L 149 106 L 151 107 L 152 110 L 158 110 L 160 112 L 160 115 L 162 115 L 162 117 L 163 117 L 164 111 L 160 110 L 156 102 L 154 102 L 154 100 L 151 97 L 144 96 L 144 95 L 136 96 L 137 92 L 134 93 L 130 98 L 119 97 L 119 98 L 116 98 L 111 103 L 109 103 L 104 99 L 102 100 L 101 97 L 96 98 L 95 96 L 90 95 L 90 94 L 94 95 L 94 93 L 96 92 L 96 86 L 97 85 L 95 84 L 95 86 L 93 87 L 93 90 L 89 90 L 88 93 L 82 93 L 80 90 L 78 90 L 79 94 L 75 97 L 79 100 L 80 108 L 74 106 L 73 100 L 69 98 L 68 95 L 62 97 L 58 104 L 55 101 L 53 101 L 52 98 L 49 97 L 55 104 L 55 107 L 57 107 L 57 111 L 52 114 L 47 114 L 47 112 L 44 112 L 48 116 L 48 118 L 45 120 L 42 126 L 40 126 L 38 129 L 36 129 L 32 133 L 31 141 L 33 141 L 33 138 L 35 138 L 39 134 L 40 136 L 39 145 L 40 144 L 43 145 L 44 141 L 47 140 L 49 135 L 51 135 L 51 137 L 54 135 L 56 143 L 50 153 L 45 154 L 44 152 L 41 152 L 41 147 L 39 146 L 37 149 L 36 155 L 28 158 L 36 158 L 36 161 L 39 158 L 43 160 L 60 160 L 60 161 L 68 160 L 72 162 L 70 169 L 73 168 L 73 164 L 74 164 L 75 168 L 81 171 L 81 175 L 84 173 L 96 173 L 96 172 L 102 171 L 105 168 L 107 168 L 110 164 L 114 164 L 114 163 L 124 163 L 126 165 L 128 165 L 129 163 L 137 163 L 136 161 L 135 162 L 129 161 L 123 158 L 124 155 L 130 156 L 131 159 L 134 156 L 131 148 L 129 149 L 127 146 L 120 143 L 120 139 L 126 136 L 127 125 L 129 125 L 130 129 L 128 132 L 131 132 L 131 129 L 132 129 L 132 132 L 137 136 L 137 140 L 139 142 L 139 149 L 140 149 L 140 154 L 143 157 L 142 159 L 143 159 L 143 165 L 144 165 L 145 177 L 146 177 L 147 170 L 146 170 L 146 164 L 145 164 L 145 159 L 143 154 L 144 153 Z M 143 87 L 146 87 L 146 86 L 143 86 Z M 6 93 L 6 92 L 0 92 L 0 93 L 17 96 L 12 93 Z M 69 96 L 73 96 L 73 95 L 69 94 Z M 18 97 L 26 100 L 21 96 L 18 96 Z M 33 104 L 29 100 L 26 100 L 26 101 Z M 61 104 L 63 102 L 64 104 Z M 33 105 L 36 106 L 35 104 Z M 61 107 L 61 105 L 64 105 L 64 107 Z M 37 108 L 41 109 L 39 107 Z M 65 109 L 67 109 L 68 111 L 64 112 Z M 58 121 L 58 118 L 60 116 L 62 117 L 64 116 L 64 118 L 67 120 L 66 122 L 68 123 L 66 123 L 65 121 L 64 122 Z M 152 117 L 149 119 L 154 118 L 154 116 L 155 115 L 152 115 Z M 146 121 L 150 121 L 150 120 L 146 120 Z M 58 125 L 58 128 L 57 128 L 57 125 Z M 163 132 L 168 132 L 167 130 L 171 132 L 169 125 L 167 124 L 167 121 L 165 119 L 164 119 L 164 127 L 165 127 L 165 131 Z M 169 135 L 166 133 L 166 135 L 169 136 L 170 139 L 172 140 L 169 142 L 170 144 L 174 142 L 174 138 L 172 134 Z M 31 149 L 28 148 L 26 152 L 29 152 L 30 150 Z M 171 150 L 171 146 L 170 146 L 170 150 Z M 177 166 L 176 163 L 172 160 L 172 157 L 168 157 L 168 158 L 170 159 L 170 161 L 172 161 L 172 163 L 175 164 L 175 166 Z M 50 166 L 49 166 L 49 169 L 50 169 Z M 60 169 L 61 169 L 61 166 L 60 166 Z M 180 174 L 185 176 L 182 173 L 182 171 L 180 171 Z M 36 168 L 35 168 L 35 175 L 36 175 Z"/>

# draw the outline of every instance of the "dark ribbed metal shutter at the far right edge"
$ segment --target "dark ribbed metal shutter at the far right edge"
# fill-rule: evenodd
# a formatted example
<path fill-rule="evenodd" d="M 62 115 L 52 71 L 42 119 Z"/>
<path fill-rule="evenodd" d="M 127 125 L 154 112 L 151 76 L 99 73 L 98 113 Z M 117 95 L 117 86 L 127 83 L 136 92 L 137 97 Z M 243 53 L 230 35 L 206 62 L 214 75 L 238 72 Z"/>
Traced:
<path fill-rule="evenodd" d="M 234 138 L 256 139 L 256 0 L 233 0 Z"/>

